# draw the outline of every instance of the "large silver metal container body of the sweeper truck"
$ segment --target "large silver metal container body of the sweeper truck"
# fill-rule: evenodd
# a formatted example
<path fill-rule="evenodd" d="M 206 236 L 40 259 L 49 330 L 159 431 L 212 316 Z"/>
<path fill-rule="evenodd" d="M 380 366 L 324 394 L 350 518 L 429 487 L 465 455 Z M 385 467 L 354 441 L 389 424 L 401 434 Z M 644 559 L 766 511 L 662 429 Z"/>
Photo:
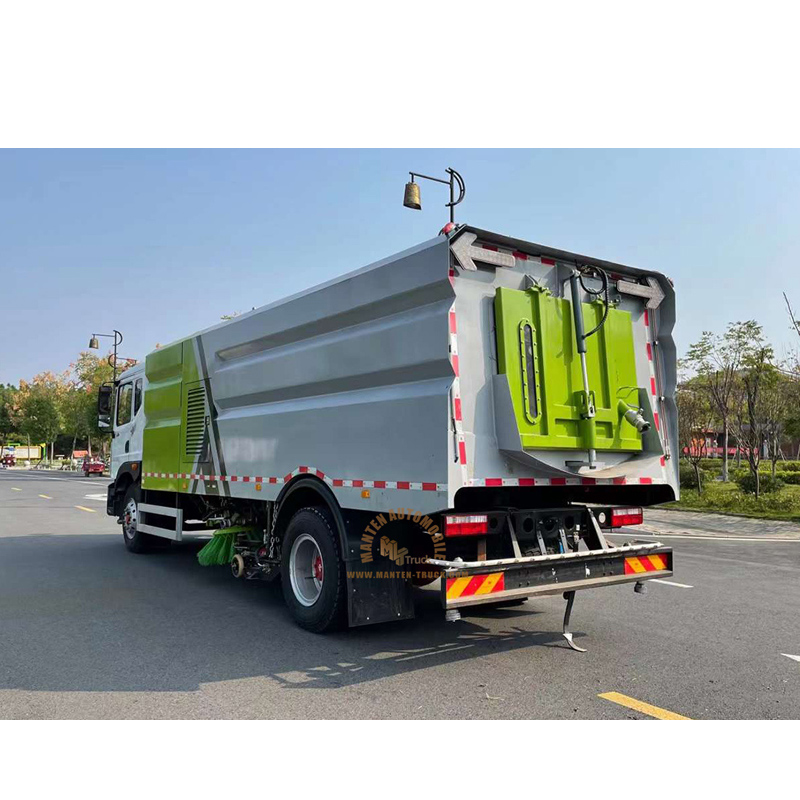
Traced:
<path fill-rule="evenodd" d="M 640 405 L 658 425 L 640 450 L 604 452 L 591 471 L 576 465 L 575 448 L 524 446 L 498 370 L 498 289 L 535 285 L 568 297 L 576 264 L 600 266 L 613 281 L 653 279 L 664 295 L 648 310 L 645 297 L 612 292 L 631 318 Z M 343 508 L 374 511 L 441 511 L 488 489 L 671 500 L 674 321 L 663 275 L 462 226 L 187 340 L 213 405 L 205 471 L 225 481 L 224 492 L 218 480 L 192 481 L 189 491 L 272 500 L 293 475 L 311 473 Z M 172 477 L 146 472 L 145 486 L 186 491 Z"/>

